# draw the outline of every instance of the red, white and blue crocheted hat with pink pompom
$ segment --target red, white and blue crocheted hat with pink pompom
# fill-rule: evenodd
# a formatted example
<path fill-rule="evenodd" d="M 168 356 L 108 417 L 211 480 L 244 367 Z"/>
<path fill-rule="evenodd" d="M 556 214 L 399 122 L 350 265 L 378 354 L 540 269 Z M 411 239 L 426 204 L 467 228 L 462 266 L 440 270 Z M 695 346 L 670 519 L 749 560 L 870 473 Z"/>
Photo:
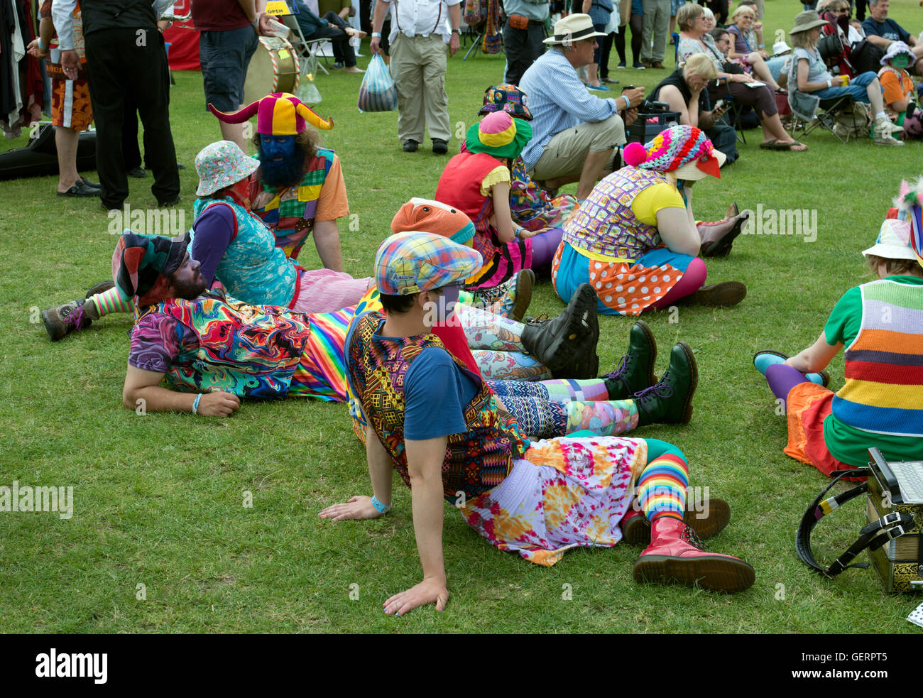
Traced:
<path fill-rule="evenodd" d="M 673 126 L 658 133 L 644 145 L 629 143 L 622 151 L 625 164 L 644 170 L 671 172 L 682 167 L 680 179 L 701 179 L 705 175 L 721 177 L 721 165 L 727 157 L 714 150 L 712 141 L 695 126 Z M 689 167 L 684 167 L 684 165 Z"/>

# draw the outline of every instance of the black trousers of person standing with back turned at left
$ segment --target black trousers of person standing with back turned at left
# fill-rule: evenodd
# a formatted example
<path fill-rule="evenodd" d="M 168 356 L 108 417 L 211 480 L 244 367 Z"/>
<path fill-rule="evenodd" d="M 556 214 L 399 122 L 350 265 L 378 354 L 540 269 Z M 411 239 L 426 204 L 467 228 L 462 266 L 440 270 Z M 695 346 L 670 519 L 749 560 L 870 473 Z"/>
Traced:
<path fill-rule="evenodd" d="M 170 69 L 156 29 L 92 31 L 85 37 L 90 102 L 96 121 L 96 167 L 102 203 L 120 209 L 128 196 L 123 154 L 126 100 L 138 107 L 144 150 L 158 202 L 179 196 L 179 171 L 170 130 Z"/>

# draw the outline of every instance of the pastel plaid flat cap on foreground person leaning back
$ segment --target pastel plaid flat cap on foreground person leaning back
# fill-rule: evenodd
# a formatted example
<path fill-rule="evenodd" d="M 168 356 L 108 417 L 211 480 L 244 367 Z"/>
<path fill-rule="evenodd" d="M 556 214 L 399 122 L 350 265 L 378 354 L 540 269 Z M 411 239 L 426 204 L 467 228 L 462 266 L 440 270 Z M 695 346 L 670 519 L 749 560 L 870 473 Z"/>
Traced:
<path fill-rule="evenodd" d="M 375 284 L 384 295 L 411 295 L 463 282 L 481 268 L 481 254 L 435 233 L 396 233 L 378 247 Z"/>

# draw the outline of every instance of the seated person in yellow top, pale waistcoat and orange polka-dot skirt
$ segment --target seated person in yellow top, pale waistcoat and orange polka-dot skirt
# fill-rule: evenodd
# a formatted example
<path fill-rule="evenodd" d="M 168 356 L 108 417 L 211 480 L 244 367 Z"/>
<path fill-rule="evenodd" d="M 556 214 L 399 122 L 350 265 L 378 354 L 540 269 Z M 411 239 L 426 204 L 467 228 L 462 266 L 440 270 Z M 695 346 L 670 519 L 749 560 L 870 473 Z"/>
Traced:
<path fill-rule="evenodd" d="M 700 229 L 692 215 L 691 188 L 680 181 L 720 177 L 725 153 L 715 150 L 700 129 L 673 126 L 643 146 L 629 143 L 624 159 L 627 166 L 605 176 L 564 226 L 552 267 L 557 295 L 569 298 L 581 283 L 591 283 L 597 309 L 607 315 L 639 315 L 677 304 L 724 307 L 743 300 L 743 283 L 703 286 L 705 263 L 697 255 L 726 255 L 748 214 Z"/>

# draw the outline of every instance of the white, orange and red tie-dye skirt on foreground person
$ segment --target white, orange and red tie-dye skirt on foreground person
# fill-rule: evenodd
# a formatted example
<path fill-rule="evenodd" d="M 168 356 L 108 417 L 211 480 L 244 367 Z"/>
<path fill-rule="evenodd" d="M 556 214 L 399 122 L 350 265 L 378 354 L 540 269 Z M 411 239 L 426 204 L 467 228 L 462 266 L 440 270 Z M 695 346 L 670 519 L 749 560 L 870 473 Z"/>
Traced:
<path fill-rule="evenodd" d="M 503 482 L 466 502 L 462 514 L 492 545 L 550 567 L 569 548 L 616 545 L 646 463 L 643 439 L 533 441 Z"/>

